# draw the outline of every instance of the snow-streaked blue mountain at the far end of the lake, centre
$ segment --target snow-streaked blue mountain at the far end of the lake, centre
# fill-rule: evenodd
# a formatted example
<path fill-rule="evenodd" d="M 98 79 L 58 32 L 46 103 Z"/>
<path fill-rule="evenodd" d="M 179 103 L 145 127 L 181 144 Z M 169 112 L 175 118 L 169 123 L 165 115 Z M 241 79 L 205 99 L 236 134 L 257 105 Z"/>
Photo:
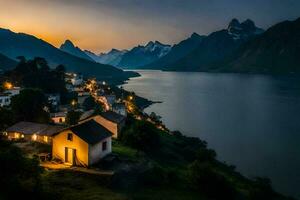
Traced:
<path fill-rule="evenodd" d="M 165 56 L 171 50 L 171 45 L 158 41 L 150 41 L 145 46 L 139 45 L 126 52 L 118 64 L 121 68 L 137 68 Z"/>

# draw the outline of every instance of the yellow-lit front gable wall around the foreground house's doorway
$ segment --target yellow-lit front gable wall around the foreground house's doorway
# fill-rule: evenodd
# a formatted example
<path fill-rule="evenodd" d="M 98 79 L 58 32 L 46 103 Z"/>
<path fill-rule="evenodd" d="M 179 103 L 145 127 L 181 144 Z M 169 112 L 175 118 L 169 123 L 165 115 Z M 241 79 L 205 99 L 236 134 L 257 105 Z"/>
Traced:
<path fill-rule="evenodd" d="M 73 134 L 73 141 L 67 140 L 68 133 Z M 65 147 L 76 149 L 76 165 L 88 166 L 89 145 L 71 130 L 65 130 L 53 137 L 52 157 L 65 162 Z"/>

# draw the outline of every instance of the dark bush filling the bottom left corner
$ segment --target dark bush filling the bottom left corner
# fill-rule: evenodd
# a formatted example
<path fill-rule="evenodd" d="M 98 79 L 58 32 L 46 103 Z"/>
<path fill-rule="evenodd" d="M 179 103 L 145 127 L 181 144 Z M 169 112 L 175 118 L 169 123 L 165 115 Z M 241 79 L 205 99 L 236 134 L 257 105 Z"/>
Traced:
<path fill-rule="evenodd" d="M 39 199 L 42 195 L 42 168 L 36 159 L 23 156 L 23 152 L 10 142 L 0 139 L 0 199 Z"/>

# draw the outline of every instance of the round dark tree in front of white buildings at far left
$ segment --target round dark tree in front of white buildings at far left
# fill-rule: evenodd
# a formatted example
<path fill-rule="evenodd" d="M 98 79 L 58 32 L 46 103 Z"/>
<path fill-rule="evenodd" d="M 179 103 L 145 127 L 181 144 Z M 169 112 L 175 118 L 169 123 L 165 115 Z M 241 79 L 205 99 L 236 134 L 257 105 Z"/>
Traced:
<path fill-rule="evenodd" d="M 49 122 L 49 113 L 44 110 L 46 105 L 47 99 L 38 89 L 24 89 L 11 100 L 11 109 L 17 121 Z"/>

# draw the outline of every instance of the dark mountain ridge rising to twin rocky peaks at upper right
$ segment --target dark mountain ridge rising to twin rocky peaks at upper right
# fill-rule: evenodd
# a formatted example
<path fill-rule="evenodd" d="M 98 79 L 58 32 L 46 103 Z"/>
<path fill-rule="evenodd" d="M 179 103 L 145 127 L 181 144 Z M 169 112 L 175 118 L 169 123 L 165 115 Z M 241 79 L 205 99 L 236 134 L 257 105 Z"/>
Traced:
<path fill-rule="evenodd" d="M 250 19 L 240 23 L 231 20 L 227 29 L 213 32 L 186 56 L 165 66 L 171 71 L 207 71 L 214 63 L 230 56 L 241 44 L 261 34 L 263 30 Z"/>

